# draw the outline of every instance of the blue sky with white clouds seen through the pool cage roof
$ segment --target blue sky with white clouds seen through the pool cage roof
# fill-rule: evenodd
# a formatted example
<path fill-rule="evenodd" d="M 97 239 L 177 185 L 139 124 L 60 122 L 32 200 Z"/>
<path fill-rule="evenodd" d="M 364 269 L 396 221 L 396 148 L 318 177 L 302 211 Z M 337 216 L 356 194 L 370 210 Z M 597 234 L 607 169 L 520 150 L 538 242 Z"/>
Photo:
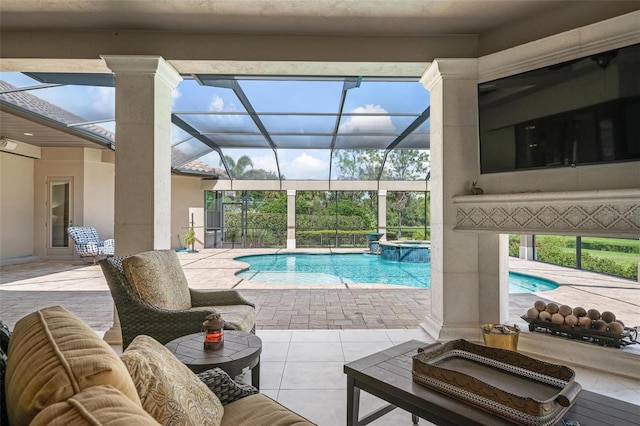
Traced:
<path fill-rule="evenodd" d="M 21 73 L 0 73 L 0 80 L 17 87 L 40 84 Z M 238 84 L 257 113 L 272 114 L 262 115 L 261 120 L 267 131 L 274 133 L 272 138 L 276 144 L 283 146 L 277 155 L 284 176 L 287 179 L 328 179 L 330 134 L 335 128 L 343 81 L 242 79 Z M 81 117 L 80 123 L 97 121 L 102 127 L 115 132 L 113 87 L 66 85 L 31 90 L 30 93 Z M 359 86 L 347 91 L 343 109 L 347 115 L 339 124 L 339 134 L 365 133 L 369 140 L 374 137 L 372 133 L 381 134 L 384 135 L 382 146 L 386 146 L 428 105 L 429 93 L 418 81 L 363 79 Z M 219 140 L 220 145 L 234 146 L 223 148 L 225 155 L 234 160 L 249 155 L 254 168 L 277 171 L 274 152 L 253 120 L 246 115 L 233 90 L 202 86 L 193 79 L 185 79 L 172 93 L 172 111 L 201 133 Z M 282 113 L 286 115 L 278 115 Z M 366 137 L 362 136 L 361 140 Z M 178 147 L 187 154 L 209 151 L 177 126 L 173 126 L 171 140 L 172 144 L 181 142 Z M 249 148 L 247 141 L 262 144 L 264 148 Z M 339 143 L 347 146 L 355 141 L 353 136 L 339 139 Z M 292 142 L 298 146 L 292 147 Z M 201 160 L 220 167 L 220 158 L 215 152 Z"/>

